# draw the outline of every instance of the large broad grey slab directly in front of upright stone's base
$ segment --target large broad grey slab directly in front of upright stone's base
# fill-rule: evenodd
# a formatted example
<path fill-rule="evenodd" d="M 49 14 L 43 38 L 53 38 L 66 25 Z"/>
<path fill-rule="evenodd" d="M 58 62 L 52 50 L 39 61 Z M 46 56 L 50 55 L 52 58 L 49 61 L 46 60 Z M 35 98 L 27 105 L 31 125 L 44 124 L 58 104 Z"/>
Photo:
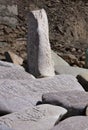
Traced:
<path fill-rule="evenodd" d="M 84 91 L 76 78 L 58 75 L 42 79 L 0 80 L 0 112 L 11 113 L 36 105 L 41 96 L 48 92 L 79 90 Z"/>

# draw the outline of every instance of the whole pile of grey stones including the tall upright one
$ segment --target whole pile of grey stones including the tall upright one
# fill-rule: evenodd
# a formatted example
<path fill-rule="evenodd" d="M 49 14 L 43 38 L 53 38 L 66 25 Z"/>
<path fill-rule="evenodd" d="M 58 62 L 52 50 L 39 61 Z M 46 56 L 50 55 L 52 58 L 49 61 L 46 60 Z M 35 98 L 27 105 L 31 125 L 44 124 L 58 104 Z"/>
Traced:
<path fill-rule="evenodd" d="M 14 64 L 0 61 L 0 130 L 87 129 L 88 70 L 51 51 L 43 9 L 29 19 L 29 73 L 10 52 Z"/>

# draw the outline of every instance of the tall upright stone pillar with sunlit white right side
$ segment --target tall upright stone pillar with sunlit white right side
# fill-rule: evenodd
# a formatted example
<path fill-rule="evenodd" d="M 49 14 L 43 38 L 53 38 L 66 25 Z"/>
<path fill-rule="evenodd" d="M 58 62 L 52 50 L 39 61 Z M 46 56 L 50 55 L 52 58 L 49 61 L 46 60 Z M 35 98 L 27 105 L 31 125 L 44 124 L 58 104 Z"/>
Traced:
<path fill-rule="evenodd" d="M 29 13 L 28 68 L 35 77 L 54 76 L 54 66 L 49 42 L 48 19 L 44 9 Z"/>

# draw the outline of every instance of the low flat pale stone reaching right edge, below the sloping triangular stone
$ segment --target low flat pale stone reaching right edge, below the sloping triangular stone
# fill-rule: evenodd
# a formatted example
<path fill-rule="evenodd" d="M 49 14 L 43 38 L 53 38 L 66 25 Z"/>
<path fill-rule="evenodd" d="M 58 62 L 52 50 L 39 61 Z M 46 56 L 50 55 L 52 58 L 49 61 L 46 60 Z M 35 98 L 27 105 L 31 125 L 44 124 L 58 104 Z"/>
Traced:
<path fill-rule="evenodd" d="M 76 77 L 80 73 L 88 72 L 88 69 L 71 66 L 56 66 L 55 71 L 57 74 L 71 74 Z"/>

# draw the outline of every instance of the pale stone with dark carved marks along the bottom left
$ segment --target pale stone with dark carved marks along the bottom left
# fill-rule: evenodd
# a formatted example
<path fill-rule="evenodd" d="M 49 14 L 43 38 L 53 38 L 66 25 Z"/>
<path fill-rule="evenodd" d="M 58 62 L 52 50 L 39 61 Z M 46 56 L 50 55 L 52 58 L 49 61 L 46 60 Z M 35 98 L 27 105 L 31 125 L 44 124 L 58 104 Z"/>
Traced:
<path fill-rule="evenodd" d="M 39 105 L 0 117 L 0 124 L 15 130 L 49 130 L 67 110 L 53 105 Z"/>

